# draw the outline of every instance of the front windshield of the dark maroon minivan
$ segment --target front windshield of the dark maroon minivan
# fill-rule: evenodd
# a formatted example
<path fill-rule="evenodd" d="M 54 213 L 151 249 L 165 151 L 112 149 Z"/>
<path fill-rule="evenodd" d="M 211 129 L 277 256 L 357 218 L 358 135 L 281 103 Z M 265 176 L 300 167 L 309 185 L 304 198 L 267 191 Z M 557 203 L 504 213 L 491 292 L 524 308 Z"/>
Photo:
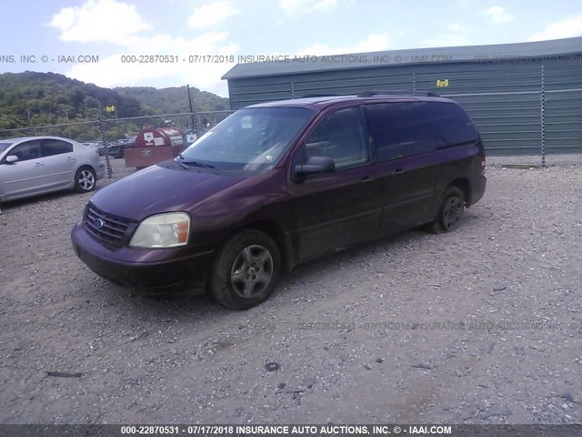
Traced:
<path fill-rule="evenodd" d="M 314 110 L 304 107 L 241 109 L 199 137 L 176 161 L 218 172 L 263 173 L 275 167 L 314 116 Z"/>

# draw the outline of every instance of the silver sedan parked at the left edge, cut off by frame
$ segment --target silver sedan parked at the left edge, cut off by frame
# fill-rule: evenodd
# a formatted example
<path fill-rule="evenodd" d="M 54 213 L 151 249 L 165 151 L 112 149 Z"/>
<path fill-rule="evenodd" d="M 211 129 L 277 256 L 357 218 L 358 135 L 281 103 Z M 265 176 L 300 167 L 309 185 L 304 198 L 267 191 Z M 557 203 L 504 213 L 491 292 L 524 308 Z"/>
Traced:
<path fill-rule="evenodd" d="M 61 189 L 92 191 L 104 175 L 95 147 L 61 137 L 0 139 L 0 202 Z"/>

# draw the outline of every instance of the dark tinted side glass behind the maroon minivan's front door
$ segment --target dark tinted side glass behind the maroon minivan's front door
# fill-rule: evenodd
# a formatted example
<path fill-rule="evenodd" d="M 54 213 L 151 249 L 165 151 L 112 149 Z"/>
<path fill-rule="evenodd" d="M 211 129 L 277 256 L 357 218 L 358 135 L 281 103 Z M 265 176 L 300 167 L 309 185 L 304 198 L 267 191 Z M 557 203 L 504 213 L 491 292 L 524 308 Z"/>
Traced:
<path fill-rule="evenodd" d="M 406 158 L 477 140 L 465 112 L 444 102 L 366 105 L 368 133 L 380 161 Z"/>

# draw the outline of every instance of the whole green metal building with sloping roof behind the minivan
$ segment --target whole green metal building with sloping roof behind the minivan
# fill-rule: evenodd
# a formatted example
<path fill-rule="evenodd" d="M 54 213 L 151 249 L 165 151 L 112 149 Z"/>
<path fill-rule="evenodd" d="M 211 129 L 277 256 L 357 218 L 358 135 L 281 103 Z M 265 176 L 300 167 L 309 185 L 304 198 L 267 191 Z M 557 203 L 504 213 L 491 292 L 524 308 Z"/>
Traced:
<path fill-rule="evenodd" d="M 457 100 L 490 155 L 582 152 L 582 37 L 336 56 L 273 56 L 223 76 L 230 105 L 426 90 Z"/>

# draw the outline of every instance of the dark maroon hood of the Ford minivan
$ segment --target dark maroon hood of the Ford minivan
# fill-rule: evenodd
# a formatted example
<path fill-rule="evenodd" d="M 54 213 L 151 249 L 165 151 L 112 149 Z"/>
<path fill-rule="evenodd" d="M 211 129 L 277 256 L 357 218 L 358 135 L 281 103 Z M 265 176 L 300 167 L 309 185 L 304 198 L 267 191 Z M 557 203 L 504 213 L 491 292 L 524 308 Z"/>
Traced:
<path fill-rule="evenodd" d="M 203 198 L 244 179 L 177 166 L 137 171 L 100 189 L 91 202 L 106 213 L 139 221 L 160 212 L 188 211 Z"/>

